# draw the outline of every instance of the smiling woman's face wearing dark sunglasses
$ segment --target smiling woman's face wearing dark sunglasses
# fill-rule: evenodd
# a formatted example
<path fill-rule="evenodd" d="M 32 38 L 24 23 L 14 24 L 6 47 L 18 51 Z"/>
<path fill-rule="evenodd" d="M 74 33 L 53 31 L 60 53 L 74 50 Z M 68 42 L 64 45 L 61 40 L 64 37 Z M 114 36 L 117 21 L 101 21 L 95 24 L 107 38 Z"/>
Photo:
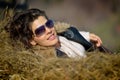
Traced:
<path fill-rule="evenodd" d="M 32 31 L 34 33 L 33 40 L 31 40 L 32 45 L 41 45 L 41 46 L 54 46 L 58 42 L 57 34 L 51 21 L 47 20 L 44 16 L 39 16 L 32 23 Z"/>

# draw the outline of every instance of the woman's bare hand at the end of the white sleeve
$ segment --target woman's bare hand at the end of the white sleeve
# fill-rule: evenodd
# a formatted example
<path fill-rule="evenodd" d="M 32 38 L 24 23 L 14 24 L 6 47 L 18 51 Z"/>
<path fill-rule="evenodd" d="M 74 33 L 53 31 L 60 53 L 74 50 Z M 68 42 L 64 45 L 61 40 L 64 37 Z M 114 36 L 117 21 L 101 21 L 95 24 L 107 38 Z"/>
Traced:
<path fill-rule="evenodd" d="M 100 39 L 100 37 L 93 33 L 90 33 L 90 41 L 93 42 L 96 47 L 100 47 L 102 45 L 102 40 Z"/>

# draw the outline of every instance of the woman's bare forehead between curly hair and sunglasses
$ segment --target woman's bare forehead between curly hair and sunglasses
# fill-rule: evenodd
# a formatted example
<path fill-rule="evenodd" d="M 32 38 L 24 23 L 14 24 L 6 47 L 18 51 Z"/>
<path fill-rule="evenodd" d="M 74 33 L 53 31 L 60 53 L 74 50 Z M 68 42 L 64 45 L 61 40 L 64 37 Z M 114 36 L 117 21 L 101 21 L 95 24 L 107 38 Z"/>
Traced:
<path fill-rule="evenodd" d="M 32 23 L 32 31 L 34 32 L 36 28 L 38 28 L 41 25 L 44 25 L 46 22 L 47 22 L 47 19 L 44 16 L 39 16 Z"/>

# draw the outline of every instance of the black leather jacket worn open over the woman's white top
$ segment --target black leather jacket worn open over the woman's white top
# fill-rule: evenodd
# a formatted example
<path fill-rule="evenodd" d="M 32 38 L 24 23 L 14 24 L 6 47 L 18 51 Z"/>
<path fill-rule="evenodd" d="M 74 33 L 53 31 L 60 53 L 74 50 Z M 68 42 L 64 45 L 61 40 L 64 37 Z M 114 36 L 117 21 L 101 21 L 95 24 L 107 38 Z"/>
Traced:
<path fill-rule="evenodd" d="M 69 27 L 66 31 L 59 33 L 58 35 L 60 36 L 64 36 L 69 40 L 75 41 L 81 45 L 83 45 L 83 47 L 85 48 L 86 51 L 91 51 L 93 48 L 93 44 L 88 42 L 80 33 L 79 31 L 75 28 L 75 27 Z M 57 49 L 56 49 L 57 50 Z M 57 56 L 61 57 L 65 55 L 64 52 L 57 50 Z"/>

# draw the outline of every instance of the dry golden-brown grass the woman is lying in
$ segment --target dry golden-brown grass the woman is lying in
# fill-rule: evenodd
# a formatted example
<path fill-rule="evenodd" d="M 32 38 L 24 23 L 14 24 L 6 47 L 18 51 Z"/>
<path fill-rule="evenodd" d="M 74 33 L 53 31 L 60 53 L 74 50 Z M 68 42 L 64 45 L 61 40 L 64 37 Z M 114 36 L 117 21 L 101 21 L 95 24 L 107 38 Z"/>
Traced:
<path fill-rule="evenodd" d="M 11 46 L 0 23 L 0 80 L 119 80 L 120 54 L 93 52 L 81 60 L 45 59 Z"/>

